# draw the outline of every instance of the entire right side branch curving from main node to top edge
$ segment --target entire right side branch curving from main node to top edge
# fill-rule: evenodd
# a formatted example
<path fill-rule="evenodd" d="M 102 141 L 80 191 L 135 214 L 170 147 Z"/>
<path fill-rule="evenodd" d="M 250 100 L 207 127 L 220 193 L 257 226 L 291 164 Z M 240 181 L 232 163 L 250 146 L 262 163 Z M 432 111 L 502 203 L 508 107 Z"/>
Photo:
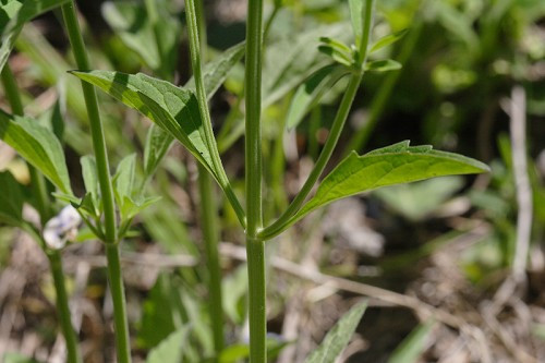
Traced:
<path fill-rule="evenodd" d="M 359 57 L 356 59 L 358 70 L 354 70 L 352 76 L 350 77 L 350 82 L 347 86 L 344 96 L 342 97 L 339 110 L 337 111 L 337 114 L 335 117 L 334 124 L 331 125 L 331 130 L 329 131 L 329 136 L 327 137 L 326 144 L 324 145 L 324 148 L 322 149 L 322 153 L 316 160 L 316 164 L 314 165 L 308 179 L 305 181 L 298 195 L 295 195 L 295 198 L 291 202 L 286 211 L 272 225 L 265 228 L 258 234 L 258 237 L 263 240 L 268 240 L 274 238 L 275 235 L 278 235 L 291 225 L 291 222 L 293 221 L 292 217 L 303 206 L 303 203 L 311 193 L 314 184 L 316 184 L 319 177 L 324 172 L 327 162 L 331 158 L 363 77 L 363 65 L 367 60 L 371 29 L 373 27 L 374 5 L 375 0 L 365 1 L 365 7 L 363 9 L 363 36 L 360 44 Z"/>

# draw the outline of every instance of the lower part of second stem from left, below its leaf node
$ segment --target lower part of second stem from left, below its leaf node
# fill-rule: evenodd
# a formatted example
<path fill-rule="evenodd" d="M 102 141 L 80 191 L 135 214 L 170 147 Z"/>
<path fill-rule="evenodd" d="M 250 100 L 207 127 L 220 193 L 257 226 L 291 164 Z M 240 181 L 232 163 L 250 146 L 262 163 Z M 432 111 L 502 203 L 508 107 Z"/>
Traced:
<path fill-rule="evenodd" d="M 125 292 L 119 258 L 119 243 L 105 243 L 105 247 L 106 259 L 108 262 L 108 281 L 113 302 L 118 362 L 129 363 L 131 362 L 131 346 L 129 340 L 129 325 L 126 323 Z"/>

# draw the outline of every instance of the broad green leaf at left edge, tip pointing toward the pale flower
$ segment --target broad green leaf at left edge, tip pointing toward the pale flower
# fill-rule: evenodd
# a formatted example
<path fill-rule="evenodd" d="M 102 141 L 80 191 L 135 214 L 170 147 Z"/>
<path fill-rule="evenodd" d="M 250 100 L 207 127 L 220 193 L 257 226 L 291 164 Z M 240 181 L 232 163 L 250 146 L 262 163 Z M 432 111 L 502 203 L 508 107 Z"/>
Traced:
<path fill-rule="evenodd" d="M 62 193 L 73 194 L 59 140 L 35 120 L 0 110 L 0 140 L 13 147 Z"/>

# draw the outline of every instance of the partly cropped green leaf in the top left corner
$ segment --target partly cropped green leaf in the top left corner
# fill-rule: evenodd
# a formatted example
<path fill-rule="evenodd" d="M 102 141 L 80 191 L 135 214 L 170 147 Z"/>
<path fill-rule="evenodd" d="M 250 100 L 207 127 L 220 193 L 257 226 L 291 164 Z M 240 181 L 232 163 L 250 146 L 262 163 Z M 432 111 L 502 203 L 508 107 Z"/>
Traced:
<path fill-rule="evenodd" d="M 23 25 L 70 0 L 11 0 L 0 2 L 0 71 L 3 69 Z"/>

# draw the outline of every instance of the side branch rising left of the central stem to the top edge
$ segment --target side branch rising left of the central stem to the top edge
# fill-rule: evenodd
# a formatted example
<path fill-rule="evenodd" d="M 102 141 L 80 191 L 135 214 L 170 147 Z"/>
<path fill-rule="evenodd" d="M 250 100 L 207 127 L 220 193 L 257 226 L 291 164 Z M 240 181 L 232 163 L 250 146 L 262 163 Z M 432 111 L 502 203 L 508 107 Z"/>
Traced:
<path fill-rule="evenodd" d="M 204 138 L 208 150 L 210 152 L 210 158 L 216 171 L 218 183 L 226 193 L 226 197 L 233 207 L 239 221 L 246 227 L 246 220 L 244 217 L 244 209 L 242 208 L 239 198 L 234 194 L 229 178 L 226 174 L 226 170 L 221 164 L 221 158 L 218 152 L 218 145 L 216 138 L 214 137 L 214 130 L 211 126 L 210 112 L 208 110 L 208 102 L 206 97 L 206 89 L 203 82 L 203 64 L 201 57 L 201 40 L 198 36 L 198 21 L 195 9 L 195 0 L 185 1 L 185 15 L 187 22 L 187 34 L 190 38 L 190 52 L 191 52 L 191 68 L 193 70 L 193 77 L 195 80 L 195 90 L 198 100 L 198 109 L 201 111 L 201 117 L 203 118 L 203 129 Z"/>

